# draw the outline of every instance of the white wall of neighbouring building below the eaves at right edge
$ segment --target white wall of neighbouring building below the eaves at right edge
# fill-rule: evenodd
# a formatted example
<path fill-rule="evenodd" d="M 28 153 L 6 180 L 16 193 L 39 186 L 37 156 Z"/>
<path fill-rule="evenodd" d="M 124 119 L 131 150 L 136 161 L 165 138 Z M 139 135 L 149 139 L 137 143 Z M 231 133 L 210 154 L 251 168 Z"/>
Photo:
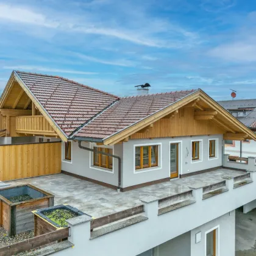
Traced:
<path fill-rule="evenodd" d="M 225 146 L 225 153 L 240 157 L 240 141 L 233 141 L 234 146 Z M 242 157 L 256 157 L 256 141 L 242 141 Z"/>

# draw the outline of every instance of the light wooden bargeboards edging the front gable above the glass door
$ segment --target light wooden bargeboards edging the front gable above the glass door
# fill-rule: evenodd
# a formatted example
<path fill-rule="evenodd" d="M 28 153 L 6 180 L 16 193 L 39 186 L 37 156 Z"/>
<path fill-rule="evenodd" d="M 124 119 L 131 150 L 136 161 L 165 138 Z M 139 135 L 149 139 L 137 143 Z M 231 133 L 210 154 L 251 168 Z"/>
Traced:
<path fill-rule="evenodd" d="M 190 95 L 180 99 L 179 101 L 176 101 L 168 105 L 167 107 L 162 108 L 161 110 L 158 110 L 152 115 L 146 116 L 146 118 L 141 119 L 137 123 L 134 123 L 122 130 L 119 130 L 118 132 L 113 133 L 107 138 L 104 138 L 103 143 L 105 145 L 113 145 L 118 143 L 119 141 L 125 140 L 127 137 L 129 137 L 133 133 L 138 132 L 139 130 L 149 126 L 155 121 L 158 121 L 164 116 L 169 115 L 172 112 L 175 112 L 176 110 L 178 110 L 179 108 L 184 107 L 190 102 L 193 102 L 196 100 L 200 100 L 204 102 L 206 105 L 208 105 L 209 108 L 211 108 L 212 110 L 216 110 L 218 112 L 218 116 L 221 116 L 221 118 L 224 120 L 223 121 L 224 125 L 225 125 L 225 120 L 229 123 L 232 123 L 232 127 L 235 127 L 235 128 L 230 130 L 232 130 L 233 133 L 243 132 L 247 135 L 247 139 L 256 140 L 256 135 L 254 132 L 252 132 L 252 130 L 244 126 L 243 123 L 238 121 L 238 119 L 236 119 L 229 112 L 227 112 L 225 108 L 221 107 L 221 105 L 219 105 L 216 101 L 210 98 L 210 96 L 204 93 L 204 91 L 199 89 L 197 91 L 194 91 L 194 93 L 191 93 Z"/>

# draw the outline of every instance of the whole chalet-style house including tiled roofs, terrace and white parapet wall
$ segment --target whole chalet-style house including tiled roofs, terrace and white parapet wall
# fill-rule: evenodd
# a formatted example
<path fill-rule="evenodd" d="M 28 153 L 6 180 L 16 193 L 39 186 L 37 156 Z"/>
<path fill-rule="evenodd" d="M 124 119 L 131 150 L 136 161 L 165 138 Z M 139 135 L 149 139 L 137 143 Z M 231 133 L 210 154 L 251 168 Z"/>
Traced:
<path fill-rule="evenodd" d="M 13 71 L 0 112 L 0 180 L 94 217 L 69 221 L 55 255 L 235 255 L 256 167 L 230 162 L 223 141 L 256 135 L 201 89 L 120 98 Z"/>

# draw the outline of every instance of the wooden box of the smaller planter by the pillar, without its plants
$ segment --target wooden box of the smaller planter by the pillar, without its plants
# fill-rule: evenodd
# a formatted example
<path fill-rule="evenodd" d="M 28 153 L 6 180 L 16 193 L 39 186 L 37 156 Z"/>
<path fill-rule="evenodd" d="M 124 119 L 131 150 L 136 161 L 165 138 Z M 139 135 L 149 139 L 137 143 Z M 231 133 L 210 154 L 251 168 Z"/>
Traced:
<path fill-rule="evenodd" d="M 35 229 L 34 229 L 35 236 L 43 235 L 45 233 L 49 233 L 54 230 L 64 229 L 65 227 L 68 227 L 67 225 L 60 227 L 59 224 L 55 223 L 54 221 L 49 219 L 46 215 L 44 215 L 44 213 L 46 213 L 46 212 L 52 212 L 57 209 L 69 210 L 73 213 L 76 213 L 77 216 L 85 215 L 85 213 L 81 212 L 77 208 L 71 207 L 70 205 L 63 205 L 63 204 L 56 205 L 56 206 L 49 207 L 49 208 L 40 209 L 40 210 L 35 210 L 33 212 L 34 213 L 34 223 L 35 223 Z"/>

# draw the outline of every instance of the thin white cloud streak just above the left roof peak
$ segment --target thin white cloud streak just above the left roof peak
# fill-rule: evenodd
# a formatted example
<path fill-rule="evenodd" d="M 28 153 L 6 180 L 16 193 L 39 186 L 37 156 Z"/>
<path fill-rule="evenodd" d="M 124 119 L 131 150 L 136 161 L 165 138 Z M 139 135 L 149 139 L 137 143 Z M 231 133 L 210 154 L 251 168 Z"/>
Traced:
<path fill-rule="evenodd" d="M 98 74 L 94 72 L 85 72 L 85 71 L 76 71 L 70 69 L 56 69 L 56 68 L 44 68 L 42 66 L 27 66 L 27 65 L 18 65 L 18 66 L 3 66 L 3 69 L 21 69 L 29 71 L 43 71 L 43 72 L 56 72 L 56 73 L 66 73 L 66 74 Z"/>

